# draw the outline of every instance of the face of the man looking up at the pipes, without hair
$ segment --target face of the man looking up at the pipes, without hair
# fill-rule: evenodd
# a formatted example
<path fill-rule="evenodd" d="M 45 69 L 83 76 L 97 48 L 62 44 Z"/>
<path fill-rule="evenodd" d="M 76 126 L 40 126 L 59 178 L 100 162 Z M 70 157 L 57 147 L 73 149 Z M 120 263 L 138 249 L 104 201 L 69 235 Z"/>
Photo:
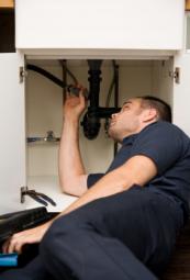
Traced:
<path fill-rule="evenodd" d="M 110 122 L 109 135 L 121 142 L 125 136 L 137 133 L 141 127 L 141 98 L 128 99 L 121 111 L 113 114 Z"/>

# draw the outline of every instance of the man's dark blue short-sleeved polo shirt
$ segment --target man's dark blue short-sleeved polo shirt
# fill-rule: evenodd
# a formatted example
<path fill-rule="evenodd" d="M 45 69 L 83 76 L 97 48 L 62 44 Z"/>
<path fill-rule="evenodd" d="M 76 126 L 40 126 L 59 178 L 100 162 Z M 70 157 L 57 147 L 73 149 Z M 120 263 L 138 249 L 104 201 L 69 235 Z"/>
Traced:
<path fill-rule="evenodd" d="M 190 138 L 171 123 L 152 123 L 139 133 L 123 139 L 122 147 L 107 172 L 136 155 L 149 157 L 158 171 L 144 187 L 175 199 L 182 205 L 185 213 L 189 213 Z M 89 175 L 88 188 L 102 176 L 104 173 Z"/>

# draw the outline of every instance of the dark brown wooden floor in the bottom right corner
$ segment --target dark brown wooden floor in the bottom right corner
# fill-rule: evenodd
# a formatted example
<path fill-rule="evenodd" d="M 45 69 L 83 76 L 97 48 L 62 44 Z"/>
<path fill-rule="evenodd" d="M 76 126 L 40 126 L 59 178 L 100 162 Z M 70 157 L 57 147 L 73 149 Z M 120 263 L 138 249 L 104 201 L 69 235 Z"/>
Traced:
<path fill-rule="evenodd" d="M 179 235 L 176 250 L 160 280 L 190 280 L 190 220 Z"/>

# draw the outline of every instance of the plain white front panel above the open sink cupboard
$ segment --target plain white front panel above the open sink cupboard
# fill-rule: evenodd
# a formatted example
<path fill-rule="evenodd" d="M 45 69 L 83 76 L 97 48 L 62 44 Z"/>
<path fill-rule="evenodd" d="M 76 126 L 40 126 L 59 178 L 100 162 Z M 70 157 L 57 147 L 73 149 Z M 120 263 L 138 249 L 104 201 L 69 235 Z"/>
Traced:
<path fill-rule="evenodd" d="M 25 54 L 112 55 L 182 48 L 183 0 L 15 0 Z"/>

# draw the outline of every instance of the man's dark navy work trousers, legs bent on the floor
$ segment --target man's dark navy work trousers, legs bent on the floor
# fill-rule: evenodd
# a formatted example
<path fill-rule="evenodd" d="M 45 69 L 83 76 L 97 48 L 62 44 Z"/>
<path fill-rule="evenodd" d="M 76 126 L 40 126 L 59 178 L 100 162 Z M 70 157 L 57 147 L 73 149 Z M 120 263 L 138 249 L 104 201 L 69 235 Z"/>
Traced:
<path fill-rule="evenodd" d="M 0 280 L 155 280 L 182 220 L 177 202 L 134 186 L 57 219 L 40 255 Z"/>

